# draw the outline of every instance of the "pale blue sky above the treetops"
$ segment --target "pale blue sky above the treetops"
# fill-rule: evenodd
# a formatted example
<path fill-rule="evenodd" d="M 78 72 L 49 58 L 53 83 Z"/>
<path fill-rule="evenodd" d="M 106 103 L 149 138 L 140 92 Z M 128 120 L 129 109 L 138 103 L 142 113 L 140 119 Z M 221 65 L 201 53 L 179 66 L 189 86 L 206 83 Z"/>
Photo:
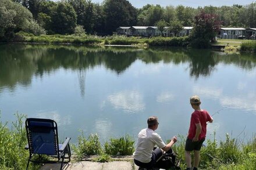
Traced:
<path fill-rule="evenodd" d="M 102 3 L 104 0 L 92 0 L 92 2 Z M 233 4 L 239 5 L 248 5 L 251 2 L 256 2 L 256 0 L 129 0 L 131 5 L 136 8 L 141 8 L 144 5 L 149 4 L 159 4 L 161 6 L 168 6 L 168 5 L 183 5 L 183 6 L 191 6 L 193 8 L 197 8 L 198 6 L 232 6 Z"/>

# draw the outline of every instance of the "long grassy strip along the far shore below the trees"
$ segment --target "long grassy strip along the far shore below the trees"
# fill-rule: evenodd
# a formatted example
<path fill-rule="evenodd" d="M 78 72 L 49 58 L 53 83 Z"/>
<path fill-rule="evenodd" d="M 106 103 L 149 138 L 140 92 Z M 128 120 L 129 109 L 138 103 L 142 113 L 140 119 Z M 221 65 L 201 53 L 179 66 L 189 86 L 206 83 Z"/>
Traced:
<path fill-rule="evenodd" d="M 188 37 L 126 37 L 113 35 L 98 37 L 97 35 L 73 34 L 73 35 L 40 35 L 19 32 L 15 42 L 46 43 L 46 44 L 84 44 L 84 45 L 134 45 L 134 46 L 187 46 Z"/>

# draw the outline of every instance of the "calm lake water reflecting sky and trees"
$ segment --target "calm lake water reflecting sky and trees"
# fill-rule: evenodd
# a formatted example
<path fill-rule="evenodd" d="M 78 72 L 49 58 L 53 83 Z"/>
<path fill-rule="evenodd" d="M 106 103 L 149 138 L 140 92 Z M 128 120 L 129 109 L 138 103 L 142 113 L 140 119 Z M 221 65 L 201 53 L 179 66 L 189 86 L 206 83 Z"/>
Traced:
<path fill-rule="evenodd" d="M 79 129 L 137 138 L 157 115 L 163 139 L 186 136 L 189 98 L 214 114 L 210 139 L 250 140 L 256 129 L 256 57 L 176 48 L 0 45 L 1 121 L 15 113 L 51 118 L 61 139 Z M 219 111 L 218 113 L 216 113 Z M 9 124 L 10 125 L 10 124 Z"/>

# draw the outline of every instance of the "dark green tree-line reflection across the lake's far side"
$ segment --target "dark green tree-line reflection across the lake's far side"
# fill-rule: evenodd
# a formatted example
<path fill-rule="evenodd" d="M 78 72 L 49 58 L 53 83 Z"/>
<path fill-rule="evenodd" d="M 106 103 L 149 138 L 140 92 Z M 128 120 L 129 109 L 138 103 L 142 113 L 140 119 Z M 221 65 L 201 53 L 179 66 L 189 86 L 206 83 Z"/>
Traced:
<path fill-rule="evenodd" d="M 234 64 L 246 70 L 256 65 L 255 57 L 250 55 L 223 56 L 223 53 L 210 50 L 1 45 L 0 52 L 1 87 L 13 89 L 17 84 L 28 86 L 33 75 L 41 77 L 62 67 L 77 70 L 81 96 L 84 96 L 86 69 L 95 66 L 104 66 L 116 74 L 122 74 L 138 59 L 144 63 L 189 63 L 190 76 L 197 79 L 209 76 L 219 63 Z"/>

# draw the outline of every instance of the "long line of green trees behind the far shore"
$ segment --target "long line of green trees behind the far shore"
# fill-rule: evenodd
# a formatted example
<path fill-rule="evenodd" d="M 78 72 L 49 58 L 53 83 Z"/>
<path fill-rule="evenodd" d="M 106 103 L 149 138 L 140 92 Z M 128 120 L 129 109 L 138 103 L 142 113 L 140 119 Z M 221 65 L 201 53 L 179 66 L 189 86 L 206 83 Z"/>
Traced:
<path fill-rule="evenodd" d="M 222 27 L 256 27 L 256 2 L 249 5 L 205 6 L 145 5 L 134 8 L 126 0 L 0 0 L 0 37 L 20 30 L 37 34 L 111 35 L 120 26 L 193 26 L 202 10 L 217 15 Z"/>

